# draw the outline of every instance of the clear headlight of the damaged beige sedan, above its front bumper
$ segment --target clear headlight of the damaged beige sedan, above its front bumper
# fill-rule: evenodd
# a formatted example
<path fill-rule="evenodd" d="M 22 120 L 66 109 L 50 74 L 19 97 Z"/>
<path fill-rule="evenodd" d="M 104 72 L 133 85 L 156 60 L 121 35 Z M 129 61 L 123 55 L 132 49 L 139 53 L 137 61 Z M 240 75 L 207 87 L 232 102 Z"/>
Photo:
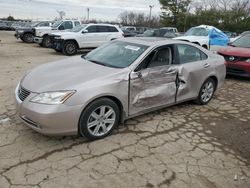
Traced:
<path fill-rule="evenodd" d="M 30 102 L 40 104 L 62 104 L 69 97 L 71 97 L 76 91 L 55 91 L 40 93 L 33 97 Z"/>

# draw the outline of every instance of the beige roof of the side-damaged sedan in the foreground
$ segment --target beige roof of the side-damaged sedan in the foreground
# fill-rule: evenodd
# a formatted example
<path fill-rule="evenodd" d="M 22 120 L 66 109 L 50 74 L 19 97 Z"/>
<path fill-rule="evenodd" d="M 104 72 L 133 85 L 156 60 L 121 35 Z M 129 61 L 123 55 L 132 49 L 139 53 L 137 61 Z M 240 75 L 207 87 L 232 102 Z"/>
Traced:
<path fill-rule="evenodd" d="M 167 45 L 167 44 L 177 44 L 177 43 L 186 43 L 174 39 L 166 39 L 161 37 L 131 37 L 131 38 L 122 38 L 118 39 L 119 41 L 131 42 L 136 44 L 141 44 L 145 46 L 158 46 L 158 45 Z"/>

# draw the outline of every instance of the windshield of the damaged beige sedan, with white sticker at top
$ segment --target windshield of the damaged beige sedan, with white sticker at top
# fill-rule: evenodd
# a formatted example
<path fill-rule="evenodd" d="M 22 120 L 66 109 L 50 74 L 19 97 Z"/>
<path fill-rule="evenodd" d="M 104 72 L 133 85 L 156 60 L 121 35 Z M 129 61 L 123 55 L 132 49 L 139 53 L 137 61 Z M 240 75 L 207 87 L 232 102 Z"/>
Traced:
<path fill-rule="evenodd" d="M 148 46 L 129 42 L 114 41 L 90 53 L 84 59 L 108 67 L 125 68 L 131 65 Z"/>

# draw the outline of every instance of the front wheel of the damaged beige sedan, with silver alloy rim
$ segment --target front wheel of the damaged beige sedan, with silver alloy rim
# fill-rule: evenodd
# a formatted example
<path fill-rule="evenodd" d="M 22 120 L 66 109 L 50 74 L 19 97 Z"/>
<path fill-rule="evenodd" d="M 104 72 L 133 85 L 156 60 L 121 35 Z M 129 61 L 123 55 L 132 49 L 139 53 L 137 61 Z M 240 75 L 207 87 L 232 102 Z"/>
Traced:
<path fill-rule="evenodd" d="M 89 140 L 104 138 L 112 133 L 120 120 L 117 104 L 101 98 L 92 102 L 83 111 L 79 121 L 79 133 Z"/>

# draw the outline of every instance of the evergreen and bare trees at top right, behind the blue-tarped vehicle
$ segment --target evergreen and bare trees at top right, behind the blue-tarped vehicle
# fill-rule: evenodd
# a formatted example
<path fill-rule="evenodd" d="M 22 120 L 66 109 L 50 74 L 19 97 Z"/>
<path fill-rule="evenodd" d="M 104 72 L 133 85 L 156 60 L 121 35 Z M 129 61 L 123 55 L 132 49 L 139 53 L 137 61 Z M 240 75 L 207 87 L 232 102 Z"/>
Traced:
<path fill-rule="evenodd" d="M 237 33 L 250 30 L 249 0 L 159 1 L 162 26 L 175 26 L 180 31 L 201 24 Z"/>

